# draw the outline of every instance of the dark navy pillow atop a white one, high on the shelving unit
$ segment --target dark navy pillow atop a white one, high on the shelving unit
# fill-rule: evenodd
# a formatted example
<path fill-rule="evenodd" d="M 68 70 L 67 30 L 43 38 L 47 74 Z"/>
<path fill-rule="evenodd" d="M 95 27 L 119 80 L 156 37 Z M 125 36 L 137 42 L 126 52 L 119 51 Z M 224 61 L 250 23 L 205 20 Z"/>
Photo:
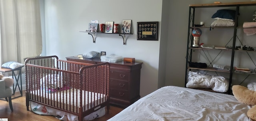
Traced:
<path fill-rule="evenodd" d="M 238 15 L 239 15 L 239 13 L 238 13 Z M 217 10 L 217 12 L 212 15 L 212 18 L 216 18 L 216 17 L 235 20 L 236 11 L 228 10 L 228 9 Z"/>

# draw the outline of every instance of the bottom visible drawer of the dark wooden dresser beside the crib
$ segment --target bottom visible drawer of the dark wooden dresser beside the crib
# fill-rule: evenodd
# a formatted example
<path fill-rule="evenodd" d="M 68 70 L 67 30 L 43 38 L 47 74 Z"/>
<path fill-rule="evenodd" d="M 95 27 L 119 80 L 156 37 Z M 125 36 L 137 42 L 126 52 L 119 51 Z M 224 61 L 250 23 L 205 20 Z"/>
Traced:
<path fill-rule="evenodd" d="M 110 97 L 128 100 L 129 99 L 129 93 L 125 90 L 118 90 L 118 89 L 109 89 L 110 90 Z"/>

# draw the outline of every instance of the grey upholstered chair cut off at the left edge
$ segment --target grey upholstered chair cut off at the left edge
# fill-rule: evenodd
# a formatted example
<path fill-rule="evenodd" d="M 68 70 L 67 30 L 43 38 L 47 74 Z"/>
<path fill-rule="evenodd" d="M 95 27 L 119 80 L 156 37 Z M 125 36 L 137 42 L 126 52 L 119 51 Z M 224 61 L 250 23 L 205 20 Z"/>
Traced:
<path fill-rule="evenodd" d="M 11 77 L 2 77 L 0 80 L 0 98 L 5 98 L 6 101 L 9 99 L 9 106 L 11 111 L 12 108 L 12 89 L 10 88 L 14 83 Z"/>

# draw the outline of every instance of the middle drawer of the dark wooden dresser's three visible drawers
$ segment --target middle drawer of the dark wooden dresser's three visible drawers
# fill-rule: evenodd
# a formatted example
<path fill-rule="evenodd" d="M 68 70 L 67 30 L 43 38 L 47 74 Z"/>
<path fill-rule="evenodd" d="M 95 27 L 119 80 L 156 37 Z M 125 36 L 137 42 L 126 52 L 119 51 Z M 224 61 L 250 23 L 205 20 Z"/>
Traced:
<path fill-rule="evenodd" d="M 110 79 L 110 88 L 128 90 L 128 81 Z"/>

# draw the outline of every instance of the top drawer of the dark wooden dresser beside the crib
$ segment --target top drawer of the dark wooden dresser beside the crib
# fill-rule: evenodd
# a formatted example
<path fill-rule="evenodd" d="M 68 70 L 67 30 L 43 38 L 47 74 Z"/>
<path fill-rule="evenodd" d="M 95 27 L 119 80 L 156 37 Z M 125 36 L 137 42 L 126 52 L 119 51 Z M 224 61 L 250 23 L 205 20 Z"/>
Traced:
<path fill-rule="evenodd" d="M 110 79 L 129 81 L 129 77 L 129 72 L 110 70 Z"/>

